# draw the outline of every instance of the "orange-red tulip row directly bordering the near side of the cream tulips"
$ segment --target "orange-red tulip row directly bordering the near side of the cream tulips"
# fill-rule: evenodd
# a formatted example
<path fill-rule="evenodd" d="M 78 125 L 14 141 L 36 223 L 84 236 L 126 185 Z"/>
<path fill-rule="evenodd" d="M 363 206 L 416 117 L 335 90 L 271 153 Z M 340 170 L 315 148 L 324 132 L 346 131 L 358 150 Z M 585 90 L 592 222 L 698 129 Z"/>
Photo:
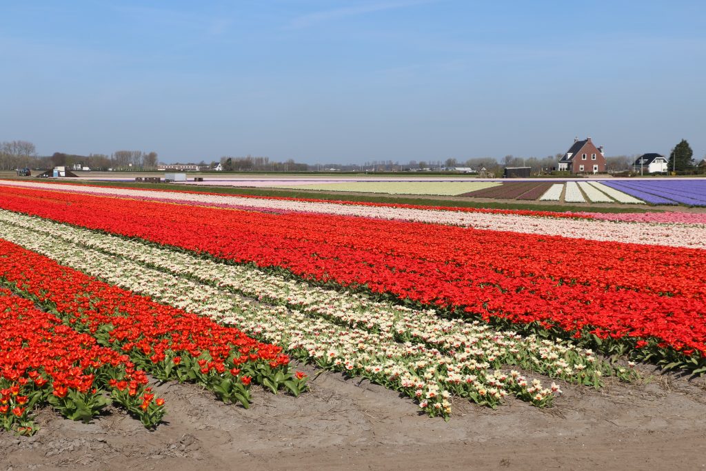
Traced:
<path fill-rule="evenodd" d="M 0 280 L 63 316 L 75 330 L 127 354 L 160 379 L 196 381 L 218 398 L 249 406 L 251 381 L 298 395 L 282 347 L 152 302 L 0 239 Z"/>

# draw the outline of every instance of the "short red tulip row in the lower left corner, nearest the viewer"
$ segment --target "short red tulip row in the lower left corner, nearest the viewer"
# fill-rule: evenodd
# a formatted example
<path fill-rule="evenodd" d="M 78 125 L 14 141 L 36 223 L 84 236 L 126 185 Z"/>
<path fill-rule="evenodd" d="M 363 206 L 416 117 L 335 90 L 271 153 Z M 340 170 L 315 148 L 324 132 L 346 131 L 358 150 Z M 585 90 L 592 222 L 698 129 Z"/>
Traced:
<path fill-rule="evenodd" d="M 164 400 L 146 388 L 145 372 L 128 357 L 97 344 L 28 299 L 0 288 L 0 424 L 31 435 L 32 410 L 51 404 L 62 415 L 89 421 L 113 402 L 154 427 Z"/>

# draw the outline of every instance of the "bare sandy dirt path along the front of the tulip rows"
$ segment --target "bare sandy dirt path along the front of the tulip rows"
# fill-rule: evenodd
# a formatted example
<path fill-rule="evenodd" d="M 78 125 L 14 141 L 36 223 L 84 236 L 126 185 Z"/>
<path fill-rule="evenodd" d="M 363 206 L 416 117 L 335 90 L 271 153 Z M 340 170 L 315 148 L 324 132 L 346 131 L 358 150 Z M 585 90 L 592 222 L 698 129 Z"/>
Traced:
<path fill-rule="evenodd" d="M 312 369 L 304 368 L 314 373 Z M 92 424 L 43 410 L 33 437 L 0 434 L 0 469 L 656 470 L 706 467 L 706 387 L 657 376 L 600 391 L 563 386 L 549 410 L 457 401 L 450 422 L 367 381 L 324 373 L 300 398 L 253 394 L 249 410 L 192 385 L 158 386 L 156 431 L 112 411 Z"/>

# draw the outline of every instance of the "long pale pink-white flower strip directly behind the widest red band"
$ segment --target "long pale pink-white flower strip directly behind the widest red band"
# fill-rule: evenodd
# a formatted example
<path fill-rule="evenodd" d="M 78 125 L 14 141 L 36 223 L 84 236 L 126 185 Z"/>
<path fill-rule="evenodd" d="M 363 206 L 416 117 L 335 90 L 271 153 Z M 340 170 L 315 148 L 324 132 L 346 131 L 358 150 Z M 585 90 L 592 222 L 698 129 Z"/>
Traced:
<path fill-rule="evenodd" d="M 489 213 L 462 213 L 445 210 L 391 208 L 385 206 L 341 205 L 336 203 L 311 203 L 307 201 L 275 200 L 269 198 L 241 198 L 238 196 L 206 195 L 173 191 L 144 191 L 138 189 L 112 189 L 95 186 L 62 185 L 26 181 L 0 180 L 0 185 L 23 186 L 73 193 L 103 196 L 150 198 L 155 201 L 186 201 L 196 204 L 228 204 L 244 207 L 258 206 L 273 210 L 293 210 L 306 213 L 324 213 L 388 220 L 431 222 L 443 225 L 460 225 L 475 229 L 488 229 L 525 234 L 546 234 L 562 237 L 630 242 L 674 247 L 706 249 L 706 234 L 699 225 L 668 225 L 650 222 L 616 222 L 607 220 L 575 220 L 568 218 L 528 217 Z M 578 187 L 577 187 L 578 189 Z M 610 194 L 610 193 L 609 193 Z M 612 195 L 611 195 L 612 197 Z"/>

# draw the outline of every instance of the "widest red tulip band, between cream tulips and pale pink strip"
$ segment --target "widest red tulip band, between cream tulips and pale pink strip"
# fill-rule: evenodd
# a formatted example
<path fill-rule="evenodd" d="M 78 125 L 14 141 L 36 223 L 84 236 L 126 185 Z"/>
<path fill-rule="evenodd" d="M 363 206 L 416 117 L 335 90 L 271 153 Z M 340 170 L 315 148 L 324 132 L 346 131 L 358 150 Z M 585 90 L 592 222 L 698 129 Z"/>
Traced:
<path fill-rule="evenodd" d="M 539 323 L 596 342 L 619 339 L 620 345 L 657 349 L 664 358 L 672 350 L 687 356 L 706 350 L 706 261 L 697 249 L 59 192 L 2 196 L 4 208 L 287 268 L 304 278 L 366 285 L 486 320 Z M 663 291 L 671 296 L 659 295 Z"/>

